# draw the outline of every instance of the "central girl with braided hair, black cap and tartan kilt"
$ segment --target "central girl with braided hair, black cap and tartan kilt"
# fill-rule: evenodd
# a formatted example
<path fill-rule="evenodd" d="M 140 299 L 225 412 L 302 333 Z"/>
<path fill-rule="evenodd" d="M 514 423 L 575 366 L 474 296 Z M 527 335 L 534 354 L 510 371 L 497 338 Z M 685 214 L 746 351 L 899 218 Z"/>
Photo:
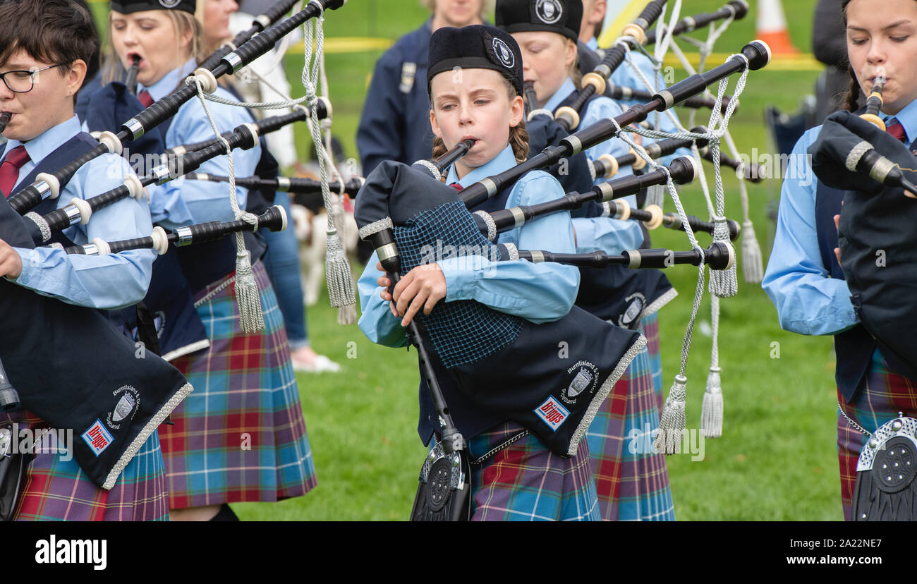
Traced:
<path fill-rule="evenodd" d="M 476 138 L 469 153 L 453 164 L 447 182 L 457 188 L 505 171 L 525 160 L 522 55 L 511 36 L 481 25 L 440 28 L 430 40 L 427 89 L 436 134 L 434 155 L 465 138 Z M 537 204 L 563 193 L 542 171 L 525 174 L 471 211 Z M 558 213 L 500 234 L 499 243 L 519 248 L 572 252 L 569 214 Z M 409 271 L 393 289 L 374 255 L 359 280 L 362 316 L 359 326 L 370 340 L 400 347 L 404 326 L 418 311 L 439 302 L 475 300 L 534 323 L 558 320 L 576 298 L 579 271 L 554 263 L 491 262 L 470 268 L 466 258 L 440 259 Z M 477 267 L 477 266 L 476 266 Z M 525 363 L 507 363 L 525 367 Z M 426 445 L 439 429 L 425 388 L 421 392 L 418 431 Z M 472 459 L 523 432 L 519 424 L 484 411 L 453 419 L 469 442 Z M 580 442 L 576 456 L 558 457 L 534 435 L 526 435 L 471 471 L 471 512 L 476 521 L 596 520 L 598 506 L 589 449 Z M 512 475 L 512 479 L 508 477 Z"/>

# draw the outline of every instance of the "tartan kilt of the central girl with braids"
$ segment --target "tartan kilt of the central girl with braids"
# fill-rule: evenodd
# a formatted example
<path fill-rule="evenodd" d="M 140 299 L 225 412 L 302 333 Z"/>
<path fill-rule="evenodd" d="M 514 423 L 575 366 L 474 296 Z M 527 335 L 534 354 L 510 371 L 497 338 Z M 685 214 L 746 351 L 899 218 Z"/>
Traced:
<path fill-rule="evenodd" d="M 474 460 L 525 428 L 504 422 L 469 441 Z M 471 468 L 471 521 L 598 521 L 589 462 L 580 441 L 574 457 L 551 452 L 535 435 L 515 441 Z"/>

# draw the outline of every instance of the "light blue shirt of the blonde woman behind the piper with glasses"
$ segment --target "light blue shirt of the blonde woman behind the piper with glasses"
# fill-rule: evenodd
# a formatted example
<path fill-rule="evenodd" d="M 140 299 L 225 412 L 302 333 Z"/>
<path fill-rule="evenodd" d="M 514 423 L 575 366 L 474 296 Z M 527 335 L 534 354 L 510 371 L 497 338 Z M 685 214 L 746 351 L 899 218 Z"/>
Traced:
<path fill-rule="evenodd" d="M 146 89 L 154 100 L 161 99 L 171 93 L 182 79 L 193 72 L 195 67 L 194 61 L 188 61 L 181 68 L 166 74 L 159 82 Z M 216 89 L 215 95 L 238 101 L 233 94 L 222 87 Z M 215 102 L 208 102 L 207 106 L 221 133 L 254 121 L 244 107 L 216 104 Z M 195 96 L 182 105 L 172 119 L 169 131 L 166 133 L 166 148 L 203 142 L 211 138 L 215 138 L 214 130 L 207 120 L 200 99 Z M 249 150 L 234 149 L 233 160 L 236 176 L 253 176 L 260 158 L 260 144 Z M 224 155 L 207 160 L 197 171 L 227 176 L 229 159 Z M 180 177 L 163 185 L 150 185 L 147 188 L 153 222 L 167 229 L 206 221 L 234 221 L 236 219 L 229 204 L 229 185 L 226 182 L 188 181 Z M 236 193 L 238 206 L 244 210 L 249 190 L 237 186 Z"/>

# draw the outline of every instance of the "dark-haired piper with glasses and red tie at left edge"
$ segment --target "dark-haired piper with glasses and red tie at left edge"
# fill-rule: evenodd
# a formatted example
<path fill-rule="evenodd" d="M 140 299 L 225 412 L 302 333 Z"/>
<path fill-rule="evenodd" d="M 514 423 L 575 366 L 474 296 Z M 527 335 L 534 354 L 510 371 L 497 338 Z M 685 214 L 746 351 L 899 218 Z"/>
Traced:
<path fill-rule="evenodd" d="M 98 47 L 92 16 L 71 0 L 20 0 L 0 5 L 0 110 L 13 116 L 0 163 L 0 191 L 9 196 L 92 149 L 80 131 L 74 97 L 86 62 Z M 87 199 L 124 182 L 127 162 L 105 155 L 83 165 L 61 195 L 35 211 L 50 213 L 75 198 Z M 152 225 L 145 201 L 125 199 L 94 213 L 86 226 L 56 239 L 75 244 L 142 237 Z M 0 276 L 65 303 L 116 309 L 138 303 L 147 291 L 155 254 L 126 251 L 107 256 L 68 255 L 55 248 L 11 248 L 0 241 Z M 50 359 L 54 356 L 50 355 Z M 0 424 L 47 428 L 32 413 L 0 413 Z M 79 435 L 75 436 L 79 440 Z M 112 490 L 99 489 L 72 457 L 38 451 L 20 483 L 17 520 L 151 521 L 168 518 L 159 436 L 153 433 Z"/>

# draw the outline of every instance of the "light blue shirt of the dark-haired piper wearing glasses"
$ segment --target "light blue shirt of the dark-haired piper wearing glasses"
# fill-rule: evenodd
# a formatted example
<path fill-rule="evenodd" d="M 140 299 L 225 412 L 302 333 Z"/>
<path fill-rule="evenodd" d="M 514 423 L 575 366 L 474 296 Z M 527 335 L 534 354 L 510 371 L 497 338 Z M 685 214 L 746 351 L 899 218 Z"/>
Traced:
<path fill-rule="evenodd" d="M 19 169 L 17 183 L 35 168 L 36 161 L 79 133 L 80 120 L 73 116 L 23 144 L 29 160 Z M 20 144 L 18 140 L 9 140 L 4 157 Z M 57 208 L 70 204 L 74 197 L 88 199 L 114 189 L 124 184 L 128 174 L 133 171 L 120 156 L 105 154 L 91 160 L 62 189 Z M 95 237 L 105 241 L 148 237 L 152 230 L 146 199 L 127 198 L 94 212 L 87 225 L 77 224 L 63 233 L 73 243 L 83 245 Z M 143 300 L 156 257 L 151 249 L 106 256 L 70 255 L 54 248 L 14 249 L 22 259 L 22 273 L 14 280 L 17 284 L 65 303 L 104 309 L 122 308 Z"/>

